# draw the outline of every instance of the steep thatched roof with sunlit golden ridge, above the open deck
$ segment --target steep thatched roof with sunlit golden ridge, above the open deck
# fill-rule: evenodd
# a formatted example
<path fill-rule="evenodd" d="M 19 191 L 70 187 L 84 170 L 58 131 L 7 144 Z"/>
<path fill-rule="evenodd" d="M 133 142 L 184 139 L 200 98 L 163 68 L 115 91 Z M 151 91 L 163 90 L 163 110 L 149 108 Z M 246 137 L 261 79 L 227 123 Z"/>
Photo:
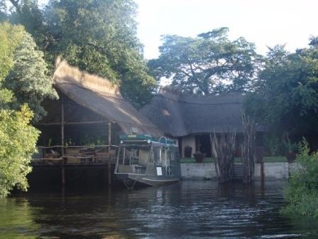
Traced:
<path fill-rule="evenodd" d="M 109 80 L 84 73 L 68 65 L 65 60 L 57 60 L 53 84 L 77 104 L 119 124 L 123 132 L 131 133 L 133 127 L 140 133 L 154 137 L 163 135 L 158 127 L 121 96 L 118 87 Z"/>

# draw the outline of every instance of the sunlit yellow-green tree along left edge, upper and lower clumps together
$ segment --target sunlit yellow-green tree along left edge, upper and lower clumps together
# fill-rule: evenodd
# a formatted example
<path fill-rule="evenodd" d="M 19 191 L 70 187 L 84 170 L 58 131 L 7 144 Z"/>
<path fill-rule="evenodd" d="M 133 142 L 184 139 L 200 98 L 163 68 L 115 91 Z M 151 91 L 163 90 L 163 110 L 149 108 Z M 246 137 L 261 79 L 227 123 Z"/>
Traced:
<path fill-rule="evenodd" d="M 26 190 L 26 175 L 35 152 L 38 130 L 29 122 L 33 112 L 27 105 L 10 110 L 13 92 L 1 84 L 13 67 L 13 54 L 23 37 L 23 27 L 0 23 L 0 196 L 18 186 Z"/>

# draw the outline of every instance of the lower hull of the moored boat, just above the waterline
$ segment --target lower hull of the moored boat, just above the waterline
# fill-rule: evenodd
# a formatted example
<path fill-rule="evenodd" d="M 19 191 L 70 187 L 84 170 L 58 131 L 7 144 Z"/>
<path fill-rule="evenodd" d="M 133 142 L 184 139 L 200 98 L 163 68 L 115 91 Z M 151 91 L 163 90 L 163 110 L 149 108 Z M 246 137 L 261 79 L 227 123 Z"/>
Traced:
<path fill-rule="evenodd" d="M 161 186 L 175 184 L 180 181 L 180 177 L 175 176 L 148 176 L 143 174 L 116 174 L 116 177 L 124 181 L 126 185 L 138 183 L 144 186 Z"/>

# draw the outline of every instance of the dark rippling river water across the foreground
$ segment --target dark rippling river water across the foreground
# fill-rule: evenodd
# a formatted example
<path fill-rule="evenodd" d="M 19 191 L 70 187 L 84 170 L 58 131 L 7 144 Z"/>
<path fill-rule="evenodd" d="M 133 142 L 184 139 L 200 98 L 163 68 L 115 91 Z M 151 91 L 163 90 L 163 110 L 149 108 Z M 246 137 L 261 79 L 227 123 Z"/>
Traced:
<path fill-rule="evenodd" d="M 318 224 L 281 216 L 283 181 L 212 181 L 102 193 L 0 199 L 0 238 L 318 238 Z"/>

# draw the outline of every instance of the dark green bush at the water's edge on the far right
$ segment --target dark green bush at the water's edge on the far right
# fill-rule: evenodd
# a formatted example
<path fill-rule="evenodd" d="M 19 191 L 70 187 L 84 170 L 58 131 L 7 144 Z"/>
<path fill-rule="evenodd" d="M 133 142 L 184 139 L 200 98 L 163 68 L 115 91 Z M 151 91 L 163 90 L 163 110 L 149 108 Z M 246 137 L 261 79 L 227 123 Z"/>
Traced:
<path fill-rule="evenodd" d="M 285 188 L 283 213 L 318 218 L 318 153 L 309 154 L 305 139 L 299 147 L 296 162 L 300 164 L 293 171 Z"/>

